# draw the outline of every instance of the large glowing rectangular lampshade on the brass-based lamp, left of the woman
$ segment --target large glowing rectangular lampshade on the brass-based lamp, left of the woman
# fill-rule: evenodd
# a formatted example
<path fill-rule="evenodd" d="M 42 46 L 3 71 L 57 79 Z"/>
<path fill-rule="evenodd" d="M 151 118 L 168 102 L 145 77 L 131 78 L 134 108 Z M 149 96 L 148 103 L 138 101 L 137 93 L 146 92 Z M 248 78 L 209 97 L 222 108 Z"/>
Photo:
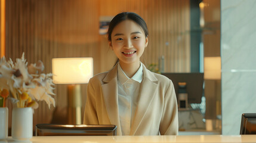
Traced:
<path fill-rule="evenodd" d="M 53 58 L 53 83 L 88 83 L 93 76 L 92 58 Z"/>

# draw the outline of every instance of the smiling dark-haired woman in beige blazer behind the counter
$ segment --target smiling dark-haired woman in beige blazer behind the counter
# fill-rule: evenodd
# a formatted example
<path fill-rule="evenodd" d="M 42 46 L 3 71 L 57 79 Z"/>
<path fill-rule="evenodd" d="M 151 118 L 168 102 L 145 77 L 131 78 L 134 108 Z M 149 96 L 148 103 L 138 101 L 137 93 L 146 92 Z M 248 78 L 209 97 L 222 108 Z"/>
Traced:
<path fill-rule="evenodd" d="M 117 135 L 177 135 L 174 85 L 140 62 L 149 42 L 143 18 L 119 13 L 109 27 L 109 45 L 119 63 L 90 79 L 84 124 L 116 125 Z"/>

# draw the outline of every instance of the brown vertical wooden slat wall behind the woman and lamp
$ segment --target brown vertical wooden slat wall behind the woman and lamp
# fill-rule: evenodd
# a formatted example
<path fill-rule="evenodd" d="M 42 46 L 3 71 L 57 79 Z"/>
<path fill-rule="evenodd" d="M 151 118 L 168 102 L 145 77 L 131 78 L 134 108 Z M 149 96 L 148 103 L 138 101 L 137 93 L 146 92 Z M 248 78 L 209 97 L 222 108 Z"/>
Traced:
<path fill-rule="evenodd" d="M 7 59 L 25 52 L 28 63 L 42 60 L 45 73 L 51 72 L 51 59 L 58 57 L 93 57 L 94 74 L 109 70 L 115 55 L 106 35 L 98 34 L 99 18 L 122 11 L 138 13 L 147 22 L 149 45 L 142 59 L 146 66 L 164 55 L 165 72 L 190 71 L 189 0 L 8 0 L 6 11 Z M 85 105 L 87 85 L 81 88 Z M 66 85 L 55 86 L 60 109 L 67 105 L 66 90 Z M 39 102 L 33 124 L 50 123 L 53 111 Z"/>

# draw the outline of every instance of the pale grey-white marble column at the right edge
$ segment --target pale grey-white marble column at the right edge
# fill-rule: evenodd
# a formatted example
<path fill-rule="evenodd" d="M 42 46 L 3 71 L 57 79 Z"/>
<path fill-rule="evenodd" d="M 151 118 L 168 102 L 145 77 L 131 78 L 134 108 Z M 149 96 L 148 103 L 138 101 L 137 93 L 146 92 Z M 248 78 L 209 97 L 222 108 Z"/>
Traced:
<path fill-rule="evenodd" d="M 221 0 L 222 134 L 239 135 L 256 113 L 256 1 Z"/>

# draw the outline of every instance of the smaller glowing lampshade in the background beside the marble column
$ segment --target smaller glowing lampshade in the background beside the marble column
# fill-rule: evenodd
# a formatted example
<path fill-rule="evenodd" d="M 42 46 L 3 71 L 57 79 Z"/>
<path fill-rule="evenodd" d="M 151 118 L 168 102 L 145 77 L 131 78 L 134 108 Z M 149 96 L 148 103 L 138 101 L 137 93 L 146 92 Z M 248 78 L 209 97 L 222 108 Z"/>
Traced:
<path fill-rule="evenodd" d="M 204 58 L 204 78 L 221 79 L 221 58 L 205 57 Z"/>

